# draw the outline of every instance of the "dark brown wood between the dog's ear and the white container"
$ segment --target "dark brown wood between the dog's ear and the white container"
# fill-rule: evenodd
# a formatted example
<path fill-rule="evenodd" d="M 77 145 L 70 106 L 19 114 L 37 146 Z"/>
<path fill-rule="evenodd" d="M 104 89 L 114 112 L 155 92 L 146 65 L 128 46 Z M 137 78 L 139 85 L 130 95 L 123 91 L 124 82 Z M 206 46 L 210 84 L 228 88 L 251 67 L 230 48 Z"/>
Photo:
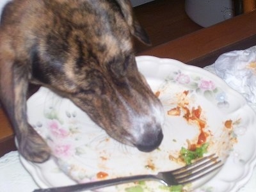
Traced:
<path fill-rule="evenodd" d="M 134 8 L 134 14 L 147 31 L 152 46 L 202 29 L 185 12 L 184 0 L 156 0 Z M 136 42 L 136 52 L 150 49 Z"/>

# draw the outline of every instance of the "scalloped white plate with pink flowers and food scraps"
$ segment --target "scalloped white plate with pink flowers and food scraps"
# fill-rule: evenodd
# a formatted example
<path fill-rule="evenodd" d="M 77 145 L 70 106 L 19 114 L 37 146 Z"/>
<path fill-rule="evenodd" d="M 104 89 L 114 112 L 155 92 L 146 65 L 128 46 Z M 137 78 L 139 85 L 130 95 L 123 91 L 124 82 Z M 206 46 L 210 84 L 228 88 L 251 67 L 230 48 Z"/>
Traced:
<path fill-rule="evenodd" d="M 160 93 L 166 112 L 164 140 L 159 150 L 143 153 L 117 143 L 70 100 L 40 88 L 28 100 L 29 123 L 45 138 L 54 157 L 43 164 L 21 157 L 38 186 L 66 186 L 76 183 L 74 180 L 88 182 L 104 177 L 104 174 L 97 177 L 101 172 L 111 178 L 179 168 L 183 164 L 171 161 L 170 157 L 178 157 L 180 148 L 188 146 L 188 140 L 196 143 L 200 132 L 195 121 L 185 120 L 184 111 L 179 116 L 167 115 L 167 111 L 183 103 L 190 111 L 193 107 L 202 108 L 200 119 L 206 125 L 208 154 L 216 153 L 225 162 L 215 177 L 212 174 L 188 189 L 200 186 L 195 191 L 220 192 L 241 188 L 250 179 L 256 163 L 255 113 L 244 98 L 202 68 L 151 56 L 140 56 L 136 60 L 152 90 Z M 232 120 L 230 129 L 225 127 L 227 120 Z M 125 191 L 132 186 L 134 184 L 102 190 Z M 158 182 L 139 186 L 144 191 L 164 191 Z"/>

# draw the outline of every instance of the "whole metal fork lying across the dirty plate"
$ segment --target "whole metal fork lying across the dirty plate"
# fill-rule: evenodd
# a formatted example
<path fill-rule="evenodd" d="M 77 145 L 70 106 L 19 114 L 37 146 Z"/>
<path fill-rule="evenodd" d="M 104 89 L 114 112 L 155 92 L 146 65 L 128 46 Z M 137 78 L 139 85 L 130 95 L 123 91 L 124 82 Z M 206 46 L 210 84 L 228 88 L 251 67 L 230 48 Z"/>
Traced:
<path fill-rule="evenodd" d="M 78 192 L 106 188 L 108 186 L 136 182 L 139 180 L 157 180 L 165 186 L 184 185 L 198 180 L 209 173 L 218 170 L 223 164 L 218 160 L 218 156 L 212 154 L 198 159 L 195 163 L 189 164 L 170 172 L 159 172 L 157 175 L 135 175 L 130 177 L 120 177 L 116 179 L 100 180 L 72 186 L 63 186 L 48 189 L 36 189 L 34 192 Z"/>

